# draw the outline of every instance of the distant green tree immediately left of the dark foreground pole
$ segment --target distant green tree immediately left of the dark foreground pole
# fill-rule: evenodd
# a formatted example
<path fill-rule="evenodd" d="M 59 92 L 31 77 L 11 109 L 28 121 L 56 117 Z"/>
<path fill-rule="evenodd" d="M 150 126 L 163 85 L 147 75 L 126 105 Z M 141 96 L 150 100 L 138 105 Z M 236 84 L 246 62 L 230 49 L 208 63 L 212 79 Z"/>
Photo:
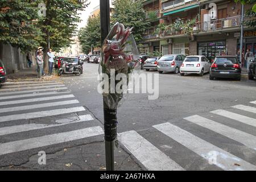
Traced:
<path fill-rule="evenodd" d="M 101 22 L 100 15 L 89 18 L 85 27 L 79 31 L 79 41 L 82 52 L 89 53 L 90 47 L 101 47 Z"/>

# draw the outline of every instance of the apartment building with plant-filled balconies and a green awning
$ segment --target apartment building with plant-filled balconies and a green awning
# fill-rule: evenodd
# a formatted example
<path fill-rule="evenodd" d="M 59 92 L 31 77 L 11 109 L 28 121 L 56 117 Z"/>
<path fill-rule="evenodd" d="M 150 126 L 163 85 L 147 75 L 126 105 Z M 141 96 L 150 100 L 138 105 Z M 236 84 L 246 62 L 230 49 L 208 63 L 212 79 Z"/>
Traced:
<path fill-rule="evenodd" d="M 240 47 L 241 4 L 223 0 L 144 0 L 151 27 L 144 36 L 143 53 L 160 51 L 163 55 L 185 53 L 236 55 Z M 248 10 L 250 6 L 245 6 Z M 245 27 L 244 47 L 256 53 L 256 28 Z"/>

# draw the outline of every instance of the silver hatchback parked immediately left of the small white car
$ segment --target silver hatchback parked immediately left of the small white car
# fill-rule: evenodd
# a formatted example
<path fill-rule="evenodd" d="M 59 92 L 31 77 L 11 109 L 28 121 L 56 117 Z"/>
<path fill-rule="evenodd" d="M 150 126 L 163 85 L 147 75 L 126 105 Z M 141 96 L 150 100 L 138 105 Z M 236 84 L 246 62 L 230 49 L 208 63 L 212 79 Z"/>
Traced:
<path fill-rule="evenodd" d="M 158 72 L 174 72 L 179 73 L 181 64 L 185 60 L 186 56 L 180 55 L 165 55 L 158 60 Z"/>

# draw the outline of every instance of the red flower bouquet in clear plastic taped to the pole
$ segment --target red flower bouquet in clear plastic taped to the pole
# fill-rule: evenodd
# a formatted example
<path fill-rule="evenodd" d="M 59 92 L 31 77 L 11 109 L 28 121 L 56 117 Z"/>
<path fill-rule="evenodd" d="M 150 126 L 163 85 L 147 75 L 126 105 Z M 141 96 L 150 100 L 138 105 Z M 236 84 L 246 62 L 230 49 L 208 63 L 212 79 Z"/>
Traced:
<path fill-rule="evenodd" d="M 127 86 L 130 81 L 129 75 L 141 69 L 138 49 L 131 34 L 132 30 L 133 28 L 129 27 L 125 29 L 125 26 L 121 23 L 115 23 L 102 45 L 99 72 L 105 75 L 105 79 L 108 79 L 108 89 L 104 88 L 102 96 L 104 101 L 105 139 L 109 141 L 112 141 L 117 135 L 117 107 L 124 94 L 117 90 L 116 86 L 118 84 L 122 85 L 121 89 Z M 122 78 L 117 79 L 117 77 L 120 77 L 119 75 Z"/>

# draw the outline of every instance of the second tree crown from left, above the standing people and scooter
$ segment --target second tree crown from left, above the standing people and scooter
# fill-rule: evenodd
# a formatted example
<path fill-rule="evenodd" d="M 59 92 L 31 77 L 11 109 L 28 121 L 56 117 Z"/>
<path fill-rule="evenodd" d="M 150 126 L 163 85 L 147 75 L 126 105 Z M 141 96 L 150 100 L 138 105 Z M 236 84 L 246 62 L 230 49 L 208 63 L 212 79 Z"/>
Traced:
<path fill-rule="evenodd" d="M 40 28 L 44 35 L 43 47 L 50 46 L 55 51 L 68 47 L 72 36 L 77 33 L 77 23 L 80 22 L 78 11 L 88 6 L 87 0 L 55 0 L 46 3 L 46 16 L 39 19 Z"/>

